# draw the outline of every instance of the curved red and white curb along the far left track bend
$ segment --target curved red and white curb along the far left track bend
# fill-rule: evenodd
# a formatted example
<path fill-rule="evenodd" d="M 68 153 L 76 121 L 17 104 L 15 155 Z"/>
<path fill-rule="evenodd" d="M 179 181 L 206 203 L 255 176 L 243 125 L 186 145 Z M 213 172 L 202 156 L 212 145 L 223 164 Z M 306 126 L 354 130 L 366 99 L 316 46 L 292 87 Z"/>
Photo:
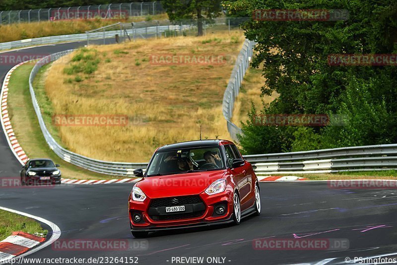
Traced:
<path fill-rule="evenodd" d="M 1 115 L 0 115 L 0 121 L 1 121 L 1 127 L 4 131 L 5 138 L 7 139 L 8 145 L 16 157 L 16 159 L 21 163 L 21 165 L 25 165 L 26 161 L 28 160 L 27 155 L 25 152 L 22 150 L 22 147 L 19 145 L 18 140 L 15 137 L 14 130 L 12 129 L 11 126 L 11 121 L 10 121 L 10 116 L 8 113 L 8 106 L 7 106 L 7 98 L 8 98 L 8 84 L 9 84 L 9 79 L 11 77 L 12 72 L 15 71 L 19 66 L 23 65 L 26 62 L 20 63 L 13 68 L 11 68 L 10 71 L 5 75 L 4 82 L 1 87 L 1 92 L 0 92 L 0 99 L 1 99 Z"/>

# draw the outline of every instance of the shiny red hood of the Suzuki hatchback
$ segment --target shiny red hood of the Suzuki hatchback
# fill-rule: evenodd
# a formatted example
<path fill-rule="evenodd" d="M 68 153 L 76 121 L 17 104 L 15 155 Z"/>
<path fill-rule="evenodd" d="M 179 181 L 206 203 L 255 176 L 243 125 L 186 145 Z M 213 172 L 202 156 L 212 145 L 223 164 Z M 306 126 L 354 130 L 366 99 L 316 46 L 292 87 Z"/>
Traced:
<path fill-rule="evenodd" d="M 225 174 L 225 170 L 217 170 L 145 177 L 136 186 L 149 198 L 192 195 L 203 192 L 212 182 Z"/>

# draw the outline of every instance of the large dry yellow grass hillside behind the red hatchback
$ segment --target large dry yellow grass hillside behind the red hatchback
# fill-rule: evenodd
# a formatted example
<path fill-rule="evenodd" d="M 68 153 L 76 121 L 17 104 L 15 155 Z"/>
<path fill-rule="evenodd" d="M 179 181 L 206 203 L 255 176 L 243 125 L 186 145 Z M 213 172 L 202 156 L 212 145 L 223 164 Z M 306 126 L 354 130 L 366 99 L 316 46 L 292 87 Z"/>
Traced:
<path fill-rule="evenodd" d="M 151 56 L 230 59 L 238 55 L 243 41 L 242 32 L 235 31 L 90 46 L 98 51 L 100 63 L 93 74 L 80 74 L 81 82 L 64 72 L 76 53 L 55 62 L 45 81 L 54 114 L 129 116 L 125 127 L 58 127 L 62 145 L 96 159 L 147 162 L 160 145 L 199 139 L 199 124 L 203 139 L 229 139 L 222 98 L 235 60 L 155 65 Z"/>

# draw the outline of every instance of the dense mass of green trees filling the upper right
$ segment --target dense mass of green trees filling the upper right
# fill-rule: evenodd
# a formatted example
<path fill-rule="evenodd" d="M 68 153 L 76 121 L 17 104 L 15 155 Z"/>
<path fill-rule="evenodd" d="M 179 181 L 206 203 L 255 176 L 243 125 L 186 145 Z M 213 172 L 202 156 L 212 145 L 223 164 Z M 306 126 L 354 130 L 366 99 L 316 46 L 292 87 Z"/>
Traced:
<path fill-rule="evenodd" d="M 396 66 L 330 66 L 330 54 L 396 54 L 396 0 L 237 0 L 225 3 L 231 13 L 258 9 L 346 9 L 345 21 L 256 21 L 243 24 L 258 45 L 252 65 L 266 77 L 263 94 L 279 98 L 261 113 L 345 114 L 344 126 L 302 129 L 255 128 L 243 125 L 240 141 L 246 152 L 271 153 L 396 143 Z M 258 127 L 258 126 L 257 126 Z M 265 131 L 266 133 L 262 133 Z M 265 142 L 277 135 L 276 147 L 251 148 L 248 138 Z M 273 135 L 274 134 L 274 135 Z M 264 138 L 264 139 L 259 139 Z M 252 141 L 252 139 L 251 139 Z M 311 144 L 305 144 L 312 141 Z"/>

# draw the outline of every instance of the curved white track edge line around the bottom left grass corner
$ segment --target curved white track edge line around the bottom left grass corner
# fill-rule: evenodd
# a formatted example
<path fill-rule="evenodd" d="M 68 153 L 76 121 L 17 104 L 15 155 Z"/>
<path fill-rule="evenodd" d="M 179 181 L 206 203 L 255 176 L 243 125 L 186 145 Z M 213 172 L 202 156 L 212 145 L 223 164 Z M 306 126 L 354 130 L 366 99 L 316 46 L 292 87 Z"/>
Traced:
<path fill-rule="evenodd" d="M 16 259 L 28 256 L 28 255 L 33 254 L 33 253 L 35 253 L 35 252 L 37 252 L 37 251 L 39 251 L 41 249 L 44 249 L 45 247 L 51 245 L 52 243 L 54 243 L 55 241 L 57 241 L 61 237 L 61 229 L 56 224 L 54 224 L 53 222 L 50 222 L 50 221 L 48 221 L 48 220 L 46 220 L 44 218 L 41 218 L 41 217 L 38 217 L 38 216 L 34 216 L 34 215 L 31 215 L 31 214 L 28 214 L 28 213 L 20 212 L 20 211 L 17 211 L 17 210 L 1 207 L 1 206 L 0 206 L 0 210 L 4 210 L 4 211 L 8 211 L 8 212 L 19 214 L 19 215 L 23 215 L 23 216 L 26 216 L 26 217 L 29 217 L 29 218 L 33 218 L 33 219 L 35 219 L 35 220 L 37 220 L 39 222 L 45 223 L 52 230 L 51 238 L 46 240 L 46 241 L 44 241 L 43 244 L 39 245 L 37 248 L 29 250 L 28 252 L 25 252 L 22 255 L 19 255 L 18 257 L 5 258 L 5 259 L 2 260 L 0 265 L 1 264 L 5 264 L 5 263 L 9 263 L 12 260 L 16 260 Z"/>

